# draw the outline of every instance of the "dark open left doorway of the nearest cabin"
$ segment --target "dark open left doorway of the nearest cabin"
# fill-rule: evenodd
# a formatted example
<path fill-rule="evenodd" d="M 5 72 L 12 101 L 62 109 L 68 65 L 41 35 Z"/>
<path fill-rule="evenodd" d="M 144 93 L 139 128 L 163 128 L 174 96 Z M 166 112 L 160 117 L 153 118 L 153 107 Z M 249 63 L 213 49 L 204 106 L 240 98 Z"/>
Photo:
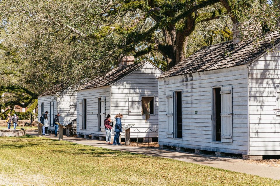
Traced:
<path fill-rule="evenodd" d="M 182 138 L 182 92 L 175 92 L 175 137 Z"/>

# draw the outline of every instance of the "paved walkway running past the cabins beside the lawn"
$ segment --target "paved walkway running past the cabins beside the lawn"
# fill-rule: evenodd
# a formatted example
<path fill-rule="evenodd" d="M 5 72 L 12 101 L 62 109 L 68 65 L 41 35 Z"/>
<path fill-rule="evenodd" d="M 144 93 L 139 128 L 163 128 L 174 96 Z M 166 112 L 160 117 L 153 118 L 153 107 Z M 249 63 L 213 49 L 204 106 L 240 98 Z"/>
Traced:
<path fill-rule="evenodd" d="M 38 135 L 38 132 L 26 130 L 26 134 Z M 58 140 L 58 137 L 55 137 L 54 135 L 47 135 L 44 137 Z M 266 165 L 259 165 L 259 164 L 250 164 L 240 159 L 222 158 L 222 157 L 216 157 L 210 155 L 200 155 L 200 154 L 177 152 L 177 151 L 163 150 L 163 149 L 147 149 L 147 148 L 140 148 L 134 146 L 113 146 L 113 145 L 105 144 L 104 141 L 91 140 L 91 139 L 78 138 L 78 137 L 63 136 L 63 140 L 74 142 L 77 144 L 102 147 L 111 150 L 128 151 L 128 152 L 138 153 L 138 154 L 143 154 L 148 156 L 170 158 L 174 160 L 207 165 L 210 167 L 216 167 L 220 169 L 226 169 L 226 170 L 236 171 L 236 172 L 241 172 L 246 174 L 253 174 L 253 175 L 277 179 L 277 180 L 280 179 L 280 168 L 269 167 Z"/>

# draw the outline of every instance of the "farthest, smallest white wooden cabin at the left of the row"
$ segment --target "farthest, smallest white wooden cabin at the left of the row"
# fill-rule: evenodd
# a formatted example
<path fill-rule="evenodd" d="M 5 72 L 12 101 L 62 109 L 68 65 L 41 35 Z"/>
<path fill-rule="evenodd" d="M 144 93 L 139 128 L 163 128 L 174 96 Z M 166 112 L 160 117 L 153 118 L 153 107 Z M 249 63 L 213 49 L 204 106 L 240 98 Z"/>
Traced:
<path fill-rule="evenodd" d="M 48 111 L 48 120 L 50 126 L 48 130 L 54 131 L 54 116 L 60 112 L 60 123 L 66 124 L 76 119 L 77 92 L 63 87 L 62 84 L 55 85 L 38 96 L 38 118 Z M 73 122 L 73 129 L 76 130 L 76 122 Z"/>

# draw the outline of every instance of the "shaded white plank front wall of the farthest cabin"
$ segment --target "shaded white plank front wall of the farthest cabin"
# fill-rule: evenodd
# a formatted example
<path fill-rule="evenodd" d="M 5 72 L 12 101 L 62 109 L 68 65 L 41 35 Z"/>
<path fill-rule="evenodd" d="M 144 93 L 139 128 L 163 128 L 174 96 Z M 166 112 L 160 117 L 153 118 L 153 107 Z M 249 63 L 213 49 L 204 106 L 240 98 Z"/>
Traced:
<path fill-rule="evenodd" d="M 53 117 L 52 117 L 52 121 L 50 123 L 50 103 L 53 103 L 54 104 L 54 109 L 55 109 L 55 113 L 57 112 L 56 108 L 57 108 L 57 102 L 56 102 L 56 94 L 51 94 L 51 95 L 46 95 L 46 96 L 38 96 L 38 120 L 40 118 L 40 116 L 42 115 L 41 112 L 41 103 L 44 103 L 44 112 L 48 111 L 48 120 L 49 120 L 49 128 L 48 130 L 50 129 L 53 129 L 54 127 L 53 126 Z M 54 115 L 53 115 L 54 116 Z"/>

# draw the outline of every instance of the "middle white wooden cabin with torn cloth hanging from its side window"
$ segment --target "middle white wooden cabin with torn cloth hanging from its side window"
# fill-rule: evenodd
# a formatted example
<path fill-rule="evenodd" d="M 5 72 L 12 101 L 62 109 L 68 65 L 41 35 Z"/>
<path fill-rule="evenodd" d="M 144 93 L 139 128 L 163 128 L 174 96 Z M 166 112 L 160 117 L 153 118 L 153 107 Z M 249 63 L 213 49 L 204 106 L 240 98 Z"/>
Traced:
<path fill-rule="evenodd" d="M 131 128 L 131 138 L 151 141 L 152 137 L 158 137 L 156 78 L 161 74 L 162 71 L 152 63 L 136 64 L 133 56 L 125 56 L 118 68 L 87 83 L 77 92 L 77 135 L 105 137 L 105 117 L 110 114 L 113 119 L 122 113 L 122 125 L 136 124 Z M 145 103 L 148 119 L 143 112 Z M 148 132 L 148 128 L 155 132 Z"/>

